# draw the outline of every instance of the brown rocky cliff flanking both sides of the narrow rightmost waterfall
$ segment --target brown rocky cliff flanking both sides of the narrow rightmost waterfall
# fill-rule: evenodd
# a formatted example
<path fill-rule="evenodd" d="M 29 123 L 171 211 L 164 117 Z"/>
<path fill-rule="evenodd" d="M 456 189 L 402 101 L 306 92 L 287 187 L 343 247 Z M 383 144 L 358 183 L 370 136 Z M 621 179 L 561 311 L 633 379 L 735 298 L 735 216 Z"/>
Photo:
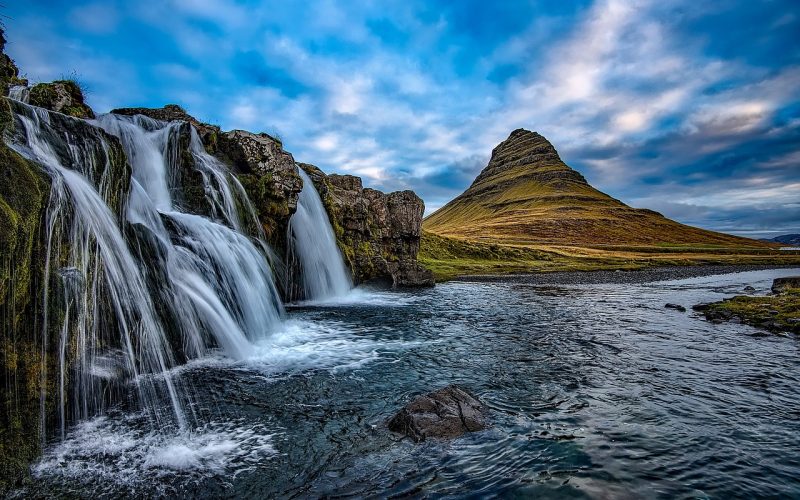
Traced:
<path fill-rule="evenodd" d="M 140 114 L 194 126 L 205 149 L 228 165 L 247 191 L 269 243 L 279 252 L 285 250 L 286 229 L 297 209 L 303 181 L 298 175 L 298 163 L 283 149 L 280 140 L 244 130 L 223 132 L 174 104 L 157 109 L 115 109 L 112 113 Z M 432 274 L 417 263 L 425 211 L 422 199 L 412 191 L 385 194 L 364 188 L 358 177 L 326 175 L 313 165 L 299 165 L 314 180 L 356 284 L 433 285 Z M 197 183 L 186 185 L 185 199 L 196 199 L 201 194 L 192 192 L 191 186 Z"/>

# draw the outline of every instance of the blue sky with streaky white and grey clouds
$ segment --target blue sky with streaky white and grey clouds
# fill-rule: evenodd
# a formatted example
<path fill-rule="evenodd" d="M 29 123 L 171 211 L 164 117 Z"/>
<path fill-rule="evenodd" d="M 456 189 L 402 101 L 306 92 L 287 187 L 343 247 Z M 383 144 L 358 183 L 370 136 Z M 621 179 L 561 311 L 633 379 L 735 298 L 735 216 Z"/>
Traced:
<path fill-rule="evenodd" d="M 797 0 L 16 1 L 7 52 L 96 112 L 183 106 L 431 213 L 516 128 L 684 223 L 800 233 Z"/>

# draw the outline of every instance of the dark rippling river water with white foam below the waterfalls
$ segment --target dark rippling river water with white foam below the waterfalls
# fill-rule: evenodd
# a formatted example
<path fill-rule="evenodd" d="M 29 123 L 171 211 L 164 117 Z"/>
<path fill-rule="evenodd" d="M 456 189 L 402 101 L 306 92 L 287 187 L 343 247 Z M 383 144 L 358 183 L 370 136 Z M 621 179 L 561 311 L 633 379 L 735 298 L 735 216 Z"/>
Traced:
<path fill-rule="evenodd" d="M 800 269 L 640 284 L 451 282 L 289 307 L 246 359 L 172 370 L 205 422 L 125 404 L 68 429 L 27 496 L 725 498 L 800 495 L 800 343 L 691 305 Z M 386 420 L 460 384 L 488 430 Z"/>

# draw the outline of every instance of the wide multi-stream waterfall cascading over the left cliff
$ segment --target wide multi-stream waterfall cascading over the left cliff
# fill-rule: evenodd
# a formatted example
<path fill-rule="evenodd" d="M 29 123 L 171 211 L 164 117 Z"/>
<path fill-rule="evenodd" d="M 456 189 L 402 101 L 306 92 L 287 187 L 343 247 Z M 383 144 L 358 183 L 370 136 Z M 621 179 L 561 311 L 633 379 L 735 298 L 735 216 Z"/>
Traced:
<path fill-rule="evenodd" d="M 53 378 L 55 357 L 61 434 L 131 384 L 155 424 L 182 428 L 191 394 L 171 368 L 214 348 L 245 358 L 284 315 L 250 201 L 183 122 L 12 109 L 6 141 L 51 179 L 41 377 Z M 190 174 L 201 179 L 203 214 L 176 201 Z"/>

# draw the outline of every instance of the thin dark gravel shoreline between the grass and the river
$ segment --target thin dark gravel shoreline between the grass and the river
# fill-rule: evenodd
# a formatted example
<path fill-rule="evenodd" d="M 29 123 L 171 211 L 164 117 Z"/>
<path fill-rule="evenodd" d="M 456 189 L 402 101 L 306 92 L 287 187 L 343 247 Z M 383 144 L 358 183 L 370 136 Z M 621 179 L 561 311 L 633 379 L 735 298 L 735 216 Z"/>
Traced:
<path fill-rule="evenodd" d="M 556 271 L 536 274 L 459 276 L 453 281 L 497 283 L 514 281 L 534 285 L 599 285 L 605 283 L 650 283 L 716 274 L 743 273 L 764 269 L 795 269 L 796 265 L 698 265 L 665 266 L 616 271 Z"/>

